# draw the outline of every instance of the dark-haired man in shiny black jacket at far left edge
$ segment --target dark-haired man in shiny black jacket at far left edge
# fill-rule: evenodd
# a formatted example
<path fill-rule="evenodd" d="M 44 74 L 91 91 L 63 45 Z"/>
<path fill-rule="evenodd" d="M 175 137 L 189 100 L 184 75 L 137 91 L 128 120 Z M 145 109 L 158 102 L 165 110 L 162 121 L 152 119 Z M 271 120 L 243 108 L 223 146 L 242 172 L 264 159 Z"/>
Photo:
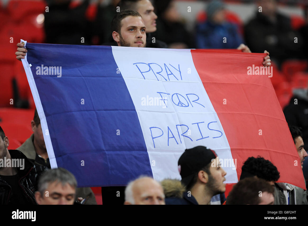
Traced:
<path fill-rule="evenodd" d="M 0 127 L 0 204 L 36 204 L 35 192 L 45 166 L 33 165 L 18 150 L 8 150 L 9 139 Z"/>

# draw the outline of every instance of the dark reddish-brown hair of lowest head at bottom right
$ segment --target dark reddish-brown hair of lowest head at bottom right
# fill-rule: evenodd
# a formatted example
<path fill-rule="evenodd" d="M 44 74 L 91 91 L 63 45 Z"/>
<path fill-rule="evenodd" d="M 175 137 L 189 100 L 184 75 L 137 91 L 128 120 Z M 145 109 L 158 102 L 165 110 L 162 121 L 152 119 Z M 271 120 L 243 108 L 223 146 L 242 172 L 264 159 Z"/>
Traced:
<path fill-rule="evenodd" d="M 274 195 L 274 187 L 257 177 L 248 177 L 235 184 L 227 197 L 228 205 L 258 205 L 261 202 L 260 191 Z"/>

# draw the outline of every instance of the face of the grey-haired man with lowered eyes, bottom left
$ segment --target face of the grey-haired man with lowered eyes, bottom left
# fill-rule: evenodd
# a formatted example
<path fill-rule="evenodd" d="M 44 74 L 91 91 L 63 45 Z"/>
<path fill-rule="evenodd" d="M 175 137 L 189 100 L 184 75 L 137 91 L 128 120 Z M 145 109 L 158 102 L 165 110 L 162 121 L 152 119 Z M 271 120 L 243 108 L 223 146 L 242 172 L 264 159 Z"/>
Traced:
<path fill-rule="evenodd" d="M 70 184 L 55 181 L 50 183 L 44 194 L 35 193 L 35 200 L 39 205 L 72 205 L 76 195 L 75 188 Z"/>

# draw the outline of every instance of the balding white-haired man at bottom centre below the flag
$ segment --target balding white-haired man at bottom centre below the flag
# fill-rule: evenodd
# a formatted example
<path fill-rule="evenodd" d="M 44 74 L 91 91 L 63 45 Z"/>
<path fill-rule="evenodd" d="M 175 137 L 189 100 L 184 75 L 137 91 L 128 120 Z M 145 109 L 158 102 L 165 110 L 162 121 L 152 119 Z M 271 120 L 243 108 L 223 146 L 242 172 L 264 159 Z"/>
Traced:
<path fill-rule="evenodd" d="M 149 176 L 140 176 L 128 183 L 124 205 L 164 205 L 165 195 L 160 183 Z"/>

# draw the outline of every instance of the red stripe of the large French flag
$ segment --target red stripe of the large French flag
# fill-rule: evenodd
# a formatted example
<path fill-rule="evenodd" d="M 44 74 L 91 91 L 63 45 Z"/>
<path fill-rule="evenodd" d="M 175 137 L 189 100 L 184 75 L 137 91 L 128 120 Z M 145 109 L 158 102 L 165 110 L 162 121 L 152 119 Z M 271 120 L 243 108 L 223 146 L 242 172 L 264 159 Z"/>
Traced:
<path fill-rule="evenodd" d="M 247 67 L 262 66 L 266 54 L 221 50 L 191 50 L 191 54 L 237 159 L 238 178 L 244 161 L 260 155 L 278 168 L 278 182 L 306 189 L 300 159 L 270 78 L 247 74 Z"/>

